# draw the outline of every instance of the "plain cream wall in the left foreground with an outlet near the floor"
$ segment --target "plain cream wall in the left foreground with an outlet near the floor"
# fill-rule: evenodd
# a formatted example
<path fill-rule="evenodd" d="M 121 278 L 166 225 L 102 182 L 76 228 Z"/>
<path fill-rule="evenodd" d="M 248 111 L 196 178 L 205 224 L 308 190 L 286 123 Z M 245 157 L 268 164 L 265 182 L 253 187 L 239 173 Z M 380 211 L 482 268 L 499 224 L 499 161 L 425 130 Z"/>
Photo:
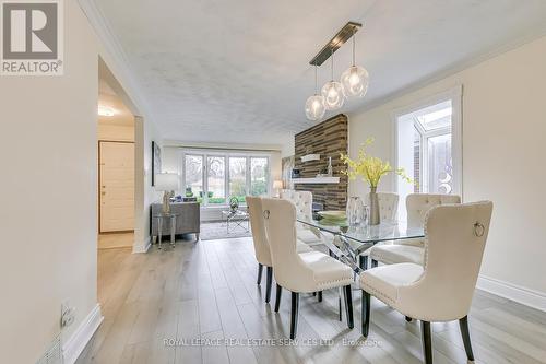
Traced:
<path fill-rule="evenodd" d="M 97 40 L 64 1 L 64 75 L 0 78 L 0 352 L 35 363 L 96 307 Z"/>

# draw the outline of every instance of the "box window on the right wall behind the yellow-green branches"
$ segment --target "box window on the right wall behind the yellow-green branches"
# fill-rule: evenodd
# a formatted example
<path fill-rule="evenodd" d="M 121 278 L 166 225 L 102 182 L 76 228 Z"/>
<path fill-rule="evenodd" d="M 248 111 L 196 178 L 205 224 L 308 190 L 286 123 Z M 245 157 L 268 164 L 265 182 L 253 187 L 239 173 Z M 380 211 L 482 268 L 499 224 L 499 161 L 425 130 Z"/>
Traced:
<path fill-rule="evenodd" d="M 412 192 L 461 195 L 461 87 L 395 114 L 396 166 L 416 184 L 396 181 L 400 201 Z M 405 219 L 405 203 L 399 218 Z"/>

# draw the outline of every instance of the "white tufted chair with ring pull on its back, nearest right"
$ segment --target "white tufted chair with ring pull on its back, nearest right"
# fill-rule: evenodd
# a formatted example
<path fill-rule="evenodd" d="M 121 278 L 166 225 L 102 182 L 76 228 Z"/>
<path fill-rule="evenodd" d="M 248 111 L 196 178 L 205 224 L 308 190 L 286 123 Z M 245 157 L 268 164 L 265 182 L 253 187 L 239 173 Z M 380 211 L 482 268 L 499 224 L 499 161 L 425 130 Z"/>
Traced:
<path fill-rule="evenodd" d="M 425 261 L 360 273 L 361 330 L 370 324 L 370 295 L 420 320 L 425 363 L 432 363 L 430 322 L 459 320 L 466 356 L 474 361 L 467 314 L 482 265 L 492 202 L 437 206 L 425 218 Z"/>

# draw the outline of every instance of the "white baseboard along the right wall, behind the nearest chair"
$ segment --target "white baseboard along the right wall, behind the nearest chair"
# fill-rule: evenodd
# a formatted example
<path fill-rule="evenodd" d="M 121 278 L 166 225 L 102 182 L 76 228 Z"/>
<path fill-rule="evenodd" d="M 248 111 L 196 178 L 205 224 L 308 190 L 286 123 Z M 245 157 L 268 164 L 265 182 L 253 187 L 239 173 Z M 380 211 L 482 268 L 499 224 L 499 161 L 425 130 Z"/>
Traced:
<path fill-rule="evenodd" d="M 478 290 L 546 312 L 546 294 L 542 292 L 525 289 L 486 275 L 479 275 L 476 286 Z"/>

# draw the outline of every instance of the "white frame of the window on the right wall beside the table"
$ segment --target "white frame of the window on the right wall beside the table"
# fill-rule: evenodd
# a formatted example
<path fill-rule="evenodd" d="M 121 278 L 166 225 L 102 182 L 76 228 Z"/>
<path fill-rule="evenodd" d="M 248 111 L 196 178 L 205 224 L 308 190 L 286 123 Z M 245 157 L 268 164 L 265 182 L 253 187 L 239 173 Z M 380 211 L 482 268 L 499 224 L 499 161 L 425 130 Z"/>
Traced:
<path fill-rule="evenodd" d="M 447 91 L 437 93 L 435 95 L 425 97 L 416 103 L 410 104 L 404 107 L 395 108 L 391 113 L 391 126 L 392 126 L 392 161 L 395 167 L 399 167 L 399 118 L 406 115 L 415 113 L 419 109 L 440 104 L 446 101 L 451 101 L 452 114 L 451 114 L 451 128 L 439 128 L 430 131 L 425 131 L 419 122 L 414 122 L 417 130 L 422 134 L 420 142 L 420 153 L 422 157 L 419 161 L 419 179 L 423 183 L 424 176 L 426 176 L 426 171 L 428 171 L 428 138 L 443 134 L 444 130 L 451 130 L 451 157 L 453 162 L 453 190 L 451 193 L 461 196 L 463 199 L 463 120 L 462 120 L 462 97 L 463 97 L 463 86 L 456 85 Z M 423 133 L 427 134 L 427 143 L 424 143 Z M 425 151 L 426 150 L 426 151 Z M 424 154 L 425 153 L 425 154 Z M 426 157 L 425 157 L 426 156 Z M 426 171 L 424 169 L 426 168 Z M 400 179 L 395 174 L 392 174 L 392 186 L 394 186 L 394 191 L 399 192 Z M 426 181 L 428 186 L 428 180 Z M 420 190 L 420 189 L 419 189 Z"/>

